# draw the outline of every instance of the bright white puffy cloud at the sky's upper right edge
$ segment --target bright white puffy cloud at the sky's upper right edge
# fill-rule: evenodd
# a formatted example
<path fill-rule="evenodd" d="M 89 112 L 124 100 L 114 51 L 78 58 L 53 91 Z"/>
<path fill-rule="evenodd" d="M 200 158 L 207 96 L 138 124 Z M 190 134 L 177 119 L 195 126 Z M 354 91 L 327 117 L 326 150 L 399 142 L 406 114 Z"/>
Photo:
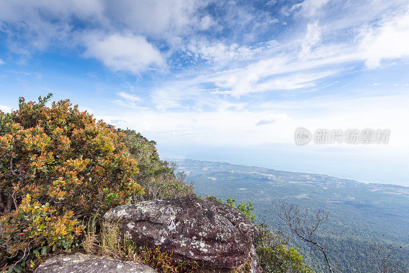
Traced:
<path fill-rule="evenodd" d="M 379 67 L 383 59 L 409 58 L 409 6 L 379 27 L 363 28 L 361 36 L 359 47 L 369 68 Z"/>

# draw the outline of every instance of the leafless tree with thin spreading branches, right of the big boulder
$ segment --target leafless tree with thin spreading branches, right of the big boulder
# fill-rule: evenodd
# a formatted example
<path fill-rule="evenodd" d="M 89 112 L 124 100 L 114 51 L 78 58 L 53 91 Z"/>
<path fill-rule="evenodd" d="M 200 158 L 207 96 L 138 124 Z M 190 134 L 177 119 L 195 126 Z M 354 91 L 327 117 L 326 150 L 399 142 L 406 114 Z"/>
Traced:
<path fill-rule="evenodd" d="M 277 213 L 278 217 L 284 220 L 291 232 L 297 235 L 300 239 L 312 243 L 324 254 L 325 260 L 328 264 L 329 271 L 332 273 L 332 267 L 325 253 L 325 249 L 315 239 L 315 232 L 321 224 L 325 224 L 328 220 L 329 213 L 324 212 L 322 208 L 318 208 L 315 212 L 310 213 L 309 208 L 305 207 L 304 211 L 301 211 L 298 205 L 288 203 L 283 200 L 279 200 L 277 207 L 273 203 L 273 210 Z"/>

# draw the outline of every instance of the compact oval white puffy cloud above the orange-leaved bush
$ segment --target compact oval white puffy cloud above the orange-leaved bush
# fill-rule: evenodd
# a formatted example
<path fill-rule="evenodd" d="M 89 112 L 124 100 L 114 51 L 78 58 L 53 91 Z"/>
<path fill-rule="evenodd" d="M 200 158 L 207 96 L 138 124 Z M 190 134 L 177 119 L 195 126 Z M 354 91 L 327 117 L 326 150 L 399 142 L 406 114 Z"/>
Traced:
<path fill-rule="evenodd" d="M 140 35 L 112 34 L 86 36 L 85 57 L 101 60 L 105 66 L 138 74 L 148 68 L 164 66 L 165 60 L 159 50 Z"/>

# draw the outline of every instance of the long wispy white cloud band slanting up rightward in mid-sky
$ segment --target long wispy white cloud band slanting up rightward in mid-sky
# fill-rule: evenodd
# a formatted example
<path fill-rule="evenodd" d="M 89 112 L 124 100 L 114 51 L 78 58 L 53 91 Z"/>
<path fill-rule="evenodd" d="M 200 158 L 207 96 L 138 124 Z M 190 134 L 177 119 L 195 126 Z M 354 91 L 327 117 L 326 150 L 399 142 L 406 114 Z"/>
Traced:
<path fill-rule="evenodd" d="M 301 61 L 286 56 L 269 57 L 208 76 L 201 72 L 202 75 L 195 81 L 213 83 L 220 89 L 218 93 L 231 94 L 235 97 L 255 92 L 295 90 L 314 87 L 315 81 L 346 70 L 342 65 L 356 59 L 357 56 L 354 54 Z M 330 65 L 336 65 L 337 68 L 328 68 Z M 341 66 L 338 68 L 339 65 Z M 316 72 L 317 69 L 321 72 Z"/>

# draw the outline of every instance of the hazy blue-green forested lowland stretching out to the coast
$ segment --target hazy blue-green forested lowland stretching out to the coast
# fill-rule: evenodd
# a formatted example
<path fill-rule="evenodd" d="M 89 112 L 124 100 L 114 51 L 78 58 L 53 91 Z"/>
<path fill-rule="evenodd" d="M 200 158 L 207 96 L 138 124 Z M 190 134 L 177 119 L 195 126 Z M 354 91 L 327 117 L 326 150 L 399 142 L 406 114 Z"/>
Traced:
<path fill-rule="evenodd" d="M 258 221 L 274 230 L 283 229 L 288 236 L 289 230 L 272 212 L 273 201 L 286 199 L 326 209 L 330 220 L 319 230 L 319 238 L 340 272 L 371 271 L 368 251 L 373 242 L 392 244 L 403 257 L 409 257 L 409 187 L 229 163 L 169 160 L 176 161 L 179 171 L 195 181 L 196 194 L 251 200 Z M 327 270 L 321 253 L 298 238 L 290 238 L 290 244 L 300 248 L 312 269 Z"/>

